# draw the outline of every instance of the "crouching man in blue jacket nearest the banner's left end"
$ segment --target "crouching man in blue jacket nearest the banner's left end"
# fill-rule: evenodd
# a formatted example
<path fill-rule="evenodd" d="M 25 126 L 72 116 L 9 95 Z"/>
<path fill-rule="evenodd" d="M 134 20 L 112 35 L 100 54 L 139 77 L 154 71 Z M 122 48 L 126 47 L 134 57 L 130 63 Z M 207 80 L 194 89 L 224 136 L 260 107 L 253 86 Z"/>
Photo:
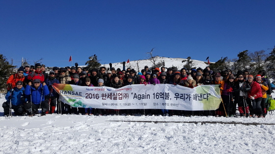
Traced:
<path fill-rule="evenodd" d="M 41 84 L 39 79 L 33 80 L 33 85 L 29 82 L 25 89 L 25 95 L 28 103 L 25 105 L 28 115 L 38 113 L 42 109 L 42 115 L 46 115 L 49 104 L 45 102 L 45 96 L 50 94 L 49 88 L 45 83 Z M 32 110 L 31 110 L 32 109 Z"/>

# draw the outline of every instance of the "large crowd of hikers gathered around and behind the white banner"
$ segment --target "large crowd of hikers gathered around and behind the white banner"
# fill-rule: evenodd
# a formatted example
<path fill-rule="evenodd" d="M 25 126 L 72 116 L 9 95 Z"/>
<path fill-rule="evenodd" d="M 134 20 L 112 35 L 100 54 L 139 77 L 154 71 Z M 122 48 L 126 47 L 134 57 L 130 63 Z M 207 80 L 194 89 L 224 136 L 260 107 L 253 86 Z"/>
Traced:
<path fill-rule="evenodd" d="M 274 85 L 260 70 L 256 76 L 248 70 L 239 70 L 233 74 L 231 70 L 213 71 L 210 67 L 188 70 L 183 67 L 149 68 L 145 66 L 141 72 L 125 67 L 122 70 L 104 66 L 100 69 L 79 67 L 53 67 L 48 73 L 45 65 L 21 66 L 17 73 L 7 80 L 6 102 L 2 104 L 4 115 L 35 115 L 41 109 L 41 115 L 87 114 L 87 115 L 204 115 L 204 116 L 236 116 L 239 110 L 242 117 L 265 117 L 267 114 L 267 98 L 271 97 Z M 59 95 L 52 85 L 71 84 L 88 87 L 121 88 L 132 84 L 173 84 L 188 88 L 201 85 L 219 85 L 222 102 L 218 110 L 187 111 L 187 110 L 105 110 L 92 108 L 74 108 L 60 101 Z M 238 108 L 237 108 L 238 105 Z M 57 108 L 56 108 L 57 107 Z M 56 108 L 56 109 L 55 109 Z M 238 114 L 239 115 L 239 114 Z"/>

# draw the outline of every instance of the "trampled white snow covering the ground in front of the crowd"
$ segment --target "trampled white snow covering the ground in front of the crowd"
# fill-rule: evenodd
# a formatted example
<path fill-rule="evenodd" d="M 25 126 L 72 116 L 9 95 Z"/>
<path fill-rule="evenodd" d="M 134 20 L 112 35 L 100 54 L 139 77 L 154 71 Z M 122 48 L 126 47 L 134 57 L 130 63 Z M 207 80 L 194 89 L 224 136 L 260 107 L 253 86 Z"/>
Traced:
<path fill-rule="evenodd" d="M 3 96 L 0 102 L 4 102 Z M 266 118 L 0 116 L 0 154 L 261 154 L 273 152 L 275 146 L 275 125 L 265 124 L 275 124 L 275 115 Z"/>

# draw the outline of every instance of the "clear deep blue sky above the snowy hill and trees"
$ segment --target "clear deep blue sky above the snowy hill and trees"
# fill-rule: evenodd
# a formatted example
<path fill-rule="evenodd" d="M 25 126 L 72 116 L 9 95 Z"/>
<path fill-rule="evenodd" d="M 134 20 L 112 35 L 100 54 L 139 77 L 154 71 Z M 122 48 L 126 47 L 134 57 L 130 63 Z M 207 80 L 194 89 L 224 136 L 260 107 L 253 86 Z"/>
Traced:
<path fill-rule="evenodd" d="M 275 0 L 0 0 L 0 53 L 20 66 L 153 55 L 211 62 L 275 45 Z"/>

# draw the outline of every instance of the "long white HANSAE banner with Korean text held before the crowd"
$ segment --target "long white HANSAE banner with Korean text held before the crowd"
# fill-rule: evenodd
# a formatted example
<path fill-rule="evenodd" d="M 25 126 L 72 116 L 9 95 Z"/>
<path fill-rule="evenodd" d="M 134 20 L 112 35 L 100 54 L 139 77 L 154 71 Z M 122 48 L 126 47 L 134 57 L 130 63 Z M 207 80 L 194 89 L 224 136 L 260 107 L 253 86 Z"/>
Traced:
<path fill-rule="evenodd" d="M 170 84 L 129 85 L 123 88 L 54 84 L 61 101 L 79 108 L 216 110 L 220 88 L 204 85 L 186 88 Z"/>

